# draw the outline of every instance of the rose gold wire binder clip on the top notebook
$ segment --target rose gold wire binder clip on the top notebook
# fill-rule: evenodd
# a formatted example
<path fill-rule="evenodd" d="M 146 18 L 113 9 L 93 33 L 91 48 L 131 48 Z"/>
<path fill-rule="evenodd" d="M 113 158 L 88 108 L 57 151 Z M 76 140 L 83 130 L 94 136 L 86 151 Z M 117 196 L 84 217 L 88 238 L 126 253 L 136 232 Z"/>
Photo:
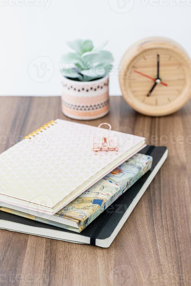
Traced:
<path fill-rule="evenodd" d="M 108 125 L 109 129 L 105 129 L 106 136 L 103 136 L 104 129 L 100 129 L 102 125 Z M 101 137 L 93 137 L 92 149 L 93 151 L 117 151 L 117 137 L 110 136 L 109 130 L 111 130 L 111 125 L 109 123 L 101 123 L 98 126 L 98 129 L 101 132 Z"/>

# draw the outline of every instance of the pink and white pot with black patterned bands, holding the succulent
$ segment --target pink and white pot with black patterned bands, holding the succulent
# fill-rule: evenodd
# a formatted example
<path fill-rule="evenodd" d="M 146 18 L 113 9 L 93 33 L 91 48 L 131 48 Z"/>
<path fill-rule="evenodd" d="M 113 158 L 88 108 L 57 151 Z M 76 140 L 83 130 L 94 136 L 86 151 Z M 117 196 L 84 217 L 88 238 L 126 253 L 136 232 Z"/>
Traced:
<path fill-rule="evenodd" d="M 62 112 L 73 119 L 91 120 L 109 112 L 109 77 L 73 81 L 62 77 Z"/>

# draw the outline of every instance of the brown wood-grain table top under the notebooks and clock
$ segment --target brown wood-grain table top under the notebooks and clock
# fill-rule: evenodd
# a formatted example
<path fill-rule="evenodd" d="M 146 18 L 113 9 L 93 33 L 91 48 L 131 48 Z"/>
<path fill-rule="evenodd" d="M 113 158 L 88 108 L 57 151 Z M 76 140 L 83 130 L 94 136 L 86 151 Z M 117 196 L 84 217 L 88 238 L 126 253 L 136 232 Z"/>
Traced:
<path fill-rule="evenodd" d="M 168 158 L 109 248 L 0 230 L 0 285 L 191 285 L 190 112 L 191 101 L 152 118 L 111 97 L 107 116 L 84 121 L 165 145 Z M 60 97 L 0 97 L 0 114 L 0 153 L 18 135 L 70 120 Z"/>

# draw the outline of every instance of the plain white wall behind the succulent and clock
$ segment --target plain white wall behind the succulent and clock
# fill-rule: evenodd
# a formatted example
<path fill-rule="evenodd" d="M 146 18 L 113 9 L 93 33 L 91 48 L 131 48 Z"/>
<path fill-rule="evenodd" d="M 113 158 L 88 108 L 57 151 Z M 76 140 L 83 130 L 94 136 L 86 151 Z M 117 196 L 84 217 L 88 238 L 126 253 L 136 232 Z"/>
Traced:
<path fill-rule="evenodd" d="M 68 40 L 108 40 L 117 66 L 147 36 L 170 37 L 191 55 L 190 27 L 191 0 L 0 0 L 0 95 L 60 95 Z M 110 94 L 121 94 L 117 73 Z"/>

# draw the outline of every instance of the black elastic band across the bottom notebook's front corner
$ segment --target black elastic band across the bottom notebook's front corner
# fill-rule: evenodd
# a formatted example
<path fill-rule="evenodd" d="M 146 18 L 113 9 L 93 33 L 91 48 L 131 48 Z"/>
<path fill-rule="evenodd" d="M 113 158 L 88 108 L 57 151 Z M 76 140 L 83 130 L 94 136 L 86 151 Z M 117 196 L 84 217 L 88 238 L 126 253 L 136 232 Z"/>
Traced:
<path fill-rule="evenodd" d="M 103 219 L 101 220 L 100 224 L 98 225 L 98 227 L 95 229 L 94 233 L 90 237 L 90 244 L 91 245 L 95 245 L 95 241 L 96 241 L 96 238 L 98 237 L 98 234 L 103 229 L 103 227 L 105 226 L 106 222 L 108 221 L 108 219 L 110 218 L 110 216 L 112 215 L 114 210 L 116 209 L 116 207 L 119 205 L 119 203 L 120 203 L 121 199 L 123 198 L 123 196 L 124 196 L 124 193 L 120 196 L 118 202 L 115 204 L 114 207 L 113 207 L 113 204 L 112 204 L 105 210 L 106 213 L 105 213 Z"/>

